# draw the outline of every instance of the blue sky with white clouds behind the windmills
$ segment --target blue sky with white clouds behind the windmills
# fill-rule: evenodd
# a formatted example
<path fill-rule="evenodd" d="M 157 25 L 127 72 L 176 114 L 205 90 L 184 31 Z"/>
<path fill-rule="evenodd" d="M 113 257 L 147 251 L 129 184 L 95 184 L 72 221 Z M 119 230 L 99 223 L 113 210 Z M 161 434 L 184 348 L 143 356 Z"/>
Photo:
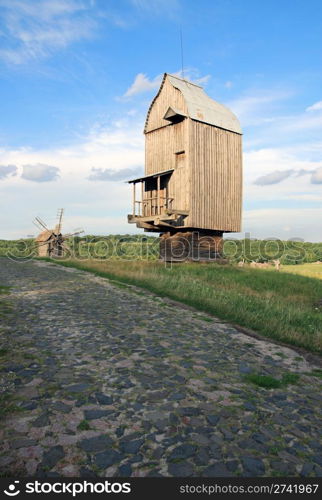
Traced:
<path fill-rule="evenodd" d="M 0 238 L 128 225 L 145 114 L 181 69 L 239 117 L 243 231 L 322 241 L 320 0 L 0 0 Z"/>

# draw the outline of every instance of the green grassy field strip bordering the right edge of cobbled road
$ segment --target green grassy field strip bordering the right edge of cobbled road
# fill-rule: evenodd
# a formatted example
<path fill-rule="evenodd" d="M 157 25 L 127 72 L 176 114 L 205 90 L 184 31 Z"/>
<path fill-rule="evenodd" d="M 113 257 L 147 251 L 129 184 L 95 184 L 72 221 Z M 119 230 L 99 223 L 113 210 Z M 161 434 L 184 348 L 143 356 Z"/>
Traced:
<path fill-rule="evenodd" d="M 258 333 L 322 353 L 322 281 L 274 269 L 86 260 L 61 262 L 138 285 Z M 294 266 L 300 268 L 301 266 Z"/>

